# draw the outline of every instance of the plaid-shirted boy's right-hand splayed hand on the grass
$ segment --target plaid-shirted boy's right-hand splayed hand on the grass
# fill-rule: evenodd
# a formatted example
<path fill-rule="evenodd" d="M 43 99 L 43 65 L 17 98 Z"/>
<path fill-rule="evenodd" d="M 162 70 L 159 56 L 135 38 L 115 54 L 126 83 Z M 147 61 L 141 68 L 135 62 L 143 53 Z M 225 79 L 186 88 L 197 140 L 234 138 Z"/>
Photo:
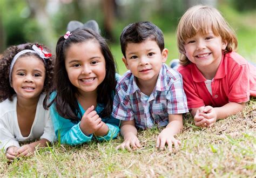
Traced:
<path fill-rule="evenodd" d="M 156 147 L 160 150 L 163 150 L 165 147 L 165 143 L 167 143 L 167 149 L 171 152 L 172 145 L 177 149 L 181 142 L 176 140 L 171 132 L 170 128 L 165 128 L 157 137 Z"/>

